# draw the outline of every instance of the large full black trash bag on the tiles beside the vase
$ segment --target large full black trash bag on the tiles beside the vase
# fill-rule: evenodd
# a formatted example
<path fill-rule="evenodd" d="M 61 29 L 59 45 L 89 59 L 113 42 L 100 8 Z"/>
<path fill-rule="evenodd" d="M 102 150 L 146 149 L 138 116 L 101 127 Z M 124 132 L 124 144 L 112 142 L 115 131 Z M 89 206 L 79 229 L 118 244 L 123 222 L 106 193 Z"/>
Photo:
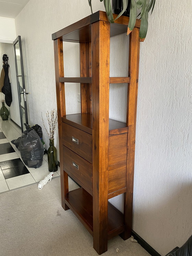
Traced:
<path fill-rule="evenodd" d="M 42 165 L 44 147 L 34 129 L 23 132 L 18 150 L 21 152 L 24 164 L 28 167 L 38 168 Z"/>

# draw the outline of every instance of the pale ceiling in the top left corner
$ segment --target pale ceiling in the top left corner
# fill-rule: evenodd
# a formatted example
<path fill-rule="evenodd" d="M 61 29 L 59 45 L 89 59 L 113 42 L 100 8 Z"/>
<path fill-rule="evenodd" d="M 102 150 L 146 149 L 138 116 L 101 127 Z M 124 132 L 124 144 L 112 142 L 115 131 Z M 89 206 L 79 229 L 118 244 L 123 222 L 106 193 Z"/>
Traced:
<path fill-rule="evenodd" d="M 15 18 L 29 0 L 0 0 L 0 16 Z"/>

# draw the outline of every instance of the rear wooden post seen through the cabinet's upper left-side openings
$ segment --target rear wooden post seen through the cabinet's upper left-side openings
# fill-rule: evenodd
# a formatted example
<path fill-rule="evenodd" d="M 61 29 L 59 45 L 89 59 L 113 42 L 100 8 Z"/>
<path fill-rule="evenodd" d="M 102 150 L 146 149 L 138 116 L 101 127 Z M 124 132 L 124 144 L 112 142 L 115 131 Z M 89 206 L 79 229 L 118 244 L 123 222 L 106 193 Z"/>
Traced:
<path fill-rule="evenodd" d="M 80 43 L 80 76 L 91 77 L 91 43 Z M 92 113 L 92 86 L 81 83 L 81 113 Z"/>

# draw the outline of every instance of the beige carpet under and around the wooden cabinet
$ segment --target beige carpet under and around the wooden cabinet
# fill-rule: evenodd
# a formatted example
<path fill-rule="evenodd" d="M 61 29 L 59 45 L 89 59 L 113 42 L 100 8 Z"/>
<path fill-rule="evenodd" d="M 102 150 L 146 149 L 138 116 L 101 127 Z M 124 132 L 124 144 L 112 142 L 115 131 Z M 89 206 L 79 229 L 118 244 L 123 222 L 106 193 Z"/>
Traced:
<path fill-rule="evenodd" d="M 70 188 L 76 188 L 71 180 Z M 59 177 L 41 190 L 35 184 L 0 194 L 0 255 L 97 256 L 93 237 L 71 210 L 63 210 L 60 200 Z M 117 236 L 103 255 L 149 254 L 138 243 Z"/>

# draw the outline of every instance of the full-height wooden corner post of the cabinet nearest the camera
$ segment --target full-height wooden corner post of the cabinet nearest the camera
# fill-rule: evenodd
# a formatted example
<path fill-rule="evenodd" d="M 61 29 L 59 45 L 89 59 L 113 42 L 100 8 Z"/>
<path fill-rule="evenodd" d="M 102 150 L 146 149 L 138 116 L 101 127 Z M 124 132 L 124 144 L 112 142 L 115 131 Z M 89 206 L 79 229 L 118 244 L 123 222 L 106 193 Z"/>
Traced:
<path fill-rule="evenodd" d="M 93 247 L 107 251 L 110 23 L 92 24 Z"/>

